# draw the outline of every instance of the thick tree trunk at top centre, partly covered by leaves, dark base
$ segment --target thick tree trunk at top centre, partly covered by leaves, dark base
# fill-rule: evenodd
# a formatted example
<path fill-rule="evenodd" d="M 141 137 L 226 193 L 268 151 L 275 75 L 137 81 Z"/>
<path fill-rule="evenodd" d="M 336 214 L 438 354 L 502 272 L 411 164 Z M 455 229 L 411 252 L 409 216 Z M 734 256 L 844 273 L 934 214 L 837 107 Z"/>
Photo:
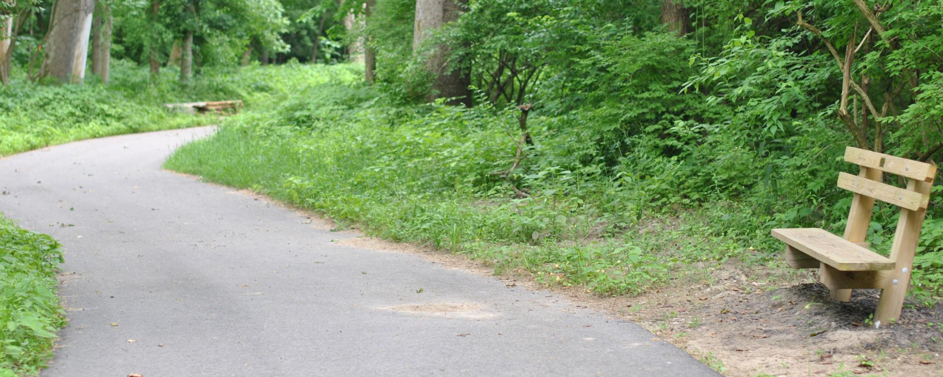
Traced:
<path fill-rule="evenodd" d="M 422 42 L 442 25 L 458 19 L 468 0 L 416 0 L 416 23 L 413 32 L 413 50 L 417 51 Z M 428 69 L 435 75 L 430 100 L 436 98 L 454 98 L 450 105 L 472 105 L 471 74 L 464 68 L 455 67 L 455 62 L 448 61 L 449 47 L 439 45 L 427 61 Z"/>

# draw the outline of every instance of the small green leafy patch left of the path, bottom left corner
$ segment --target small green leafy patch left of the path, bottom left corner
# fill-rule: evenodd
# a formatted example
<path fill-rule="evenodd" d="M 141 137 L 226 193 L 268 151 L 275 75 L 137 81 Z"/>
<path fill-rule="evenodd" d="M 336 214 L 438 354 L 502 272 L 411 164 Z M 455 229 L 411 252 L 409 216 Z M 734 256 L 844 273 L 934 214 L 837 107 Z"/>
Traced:
<path fill-rule="evenodd" d="M 65 312 L 56 295 L 58 242 L 0 214 L 0 376 L 35 375 L 52 357 Z"/>

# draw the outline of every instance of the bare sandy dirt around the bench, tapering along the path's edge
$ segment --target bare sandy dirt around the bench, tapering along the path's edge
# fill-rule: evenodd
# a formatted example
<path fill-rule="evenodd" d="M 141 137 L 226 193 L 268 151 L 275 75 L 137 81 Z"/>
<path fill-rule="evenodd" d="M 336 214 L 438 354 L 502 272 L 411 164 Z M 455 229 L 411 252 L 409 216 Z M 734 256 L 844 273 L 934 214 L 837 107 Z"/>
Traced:
<path fill-rule="evenodd" d="M 318 215 L 307 216 L 321 220 Z M 323 225 L 337 229 L 336 225 Z M 487 262 L 428 247 L 358 237 L 341 242 L 421 254 L 447 267 L 493 275 Z M 699 266 L 695 266 L 698 268 Z M 757 270 L 738 262 L 703 264 L 685 277 L 636 297 L 601 297 L 580 287 L 546 287 L 516 270 L 497 276 L 508 287 L 551 289 L 578 306 L 634 320 L 727 376 L 943 376 L 943 310 L 906 303 L 902 320 L 874 329 L 877 292 L 856 289 L 850 303 L 828 299 L 809 283 L 814 272 Z"/>

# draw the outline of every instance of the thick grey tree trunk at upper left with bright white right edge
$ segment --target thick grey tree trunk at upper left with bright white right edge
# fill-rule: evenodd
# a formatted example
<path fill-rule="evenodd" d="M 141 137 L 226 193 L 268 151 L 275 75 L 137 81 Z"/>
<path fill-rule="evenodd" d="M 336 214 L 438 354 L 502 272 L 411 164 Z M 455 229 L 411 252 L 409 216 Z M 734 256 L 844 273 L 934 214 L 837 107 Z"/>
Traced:
<path fill-rule="evenodd" d="M 51 28 L 47 34 L 42 76 L 56 77 L 62 83 L 81 83 L 89 55 L 91 13 L 94 0 L 59 0 L 53 7 Z"/>

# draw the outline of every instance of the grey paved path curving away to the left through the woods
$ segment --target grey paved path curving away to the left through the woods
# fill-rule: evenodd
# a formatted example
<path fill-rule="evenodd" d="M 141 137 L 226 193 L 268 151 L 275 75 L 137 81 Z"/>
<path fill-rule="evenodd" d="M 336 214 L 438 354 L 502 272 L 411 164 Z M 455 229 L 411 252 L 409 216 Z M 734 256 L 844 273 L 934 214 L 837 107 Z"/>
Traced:
<path fill-rule="evenodd" d="M 631 322 L 415 254 L 339 245 L 355 236 L 160 169 L 210 132 L 0 159 L 0 211 L 65 247 L 70 324 L 42 375 L 717 375 Z"/>

